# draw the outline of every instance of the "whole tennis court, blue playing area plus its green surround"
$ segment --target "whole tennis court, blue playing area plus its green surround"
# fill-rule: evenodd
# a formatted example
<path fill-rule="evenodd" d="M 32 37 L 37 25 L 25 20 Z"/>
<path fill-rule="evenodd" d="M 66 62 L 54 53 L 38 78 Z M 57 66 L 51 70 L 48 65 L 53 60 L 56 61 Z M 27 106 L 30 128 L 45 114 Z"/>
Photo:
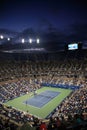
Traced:
<path fill-rule="evenodd" d="M 34 93 L 21 95 L 6 102 L 5 105 L 24 112 L 28 111 L 29 114 L 39 118 L 46 118 L 71 92 L 69 89 L 42 87 L 37 90 L 36 95 Z"/>

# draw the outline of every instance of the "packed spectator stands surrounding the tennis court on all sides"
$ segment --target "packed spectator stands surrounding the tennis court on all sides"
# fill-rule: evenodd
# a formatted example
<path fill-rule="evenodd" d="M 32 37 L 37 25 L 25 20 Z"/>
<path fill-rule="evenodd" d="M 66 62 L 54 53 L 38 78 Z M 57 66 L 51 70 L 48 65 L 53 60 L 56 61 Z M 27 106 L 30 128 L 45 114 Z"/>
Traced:
<path fill-rule="evenodd" d="M 0 130 L 86 130 L 87 129 L 87 58 L 63 61 L 0 62 Z M 34 89 L 42 83 L 75 85 L 46 120 L 19 111 L 3 103 Z M 26 129 L 25 129 L 26 130 Z"/>

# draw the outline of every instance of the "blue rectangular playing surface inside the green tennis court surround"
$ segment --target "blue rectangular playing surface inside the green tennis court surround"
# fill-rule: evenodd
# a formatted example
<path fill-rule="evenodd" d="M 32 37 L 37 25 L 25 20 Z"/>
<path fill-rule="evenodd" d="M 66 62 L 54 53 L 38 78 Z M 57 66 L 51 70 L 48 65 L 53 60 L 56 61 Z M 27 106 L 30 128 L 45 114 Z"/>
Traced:
<path fill-rule="evenodd" d="M 40 94 L 34 95 L 32 98 L 29 98 L 23 103 L 25 103 L 26 105 L 31 105 L 34 107 L 41 108 L 44 105 L 46 105 L 49 101 L 51 101 L 53 98 L 58 96 L 59 94 L 60 92 L 46 90 Z"/>

